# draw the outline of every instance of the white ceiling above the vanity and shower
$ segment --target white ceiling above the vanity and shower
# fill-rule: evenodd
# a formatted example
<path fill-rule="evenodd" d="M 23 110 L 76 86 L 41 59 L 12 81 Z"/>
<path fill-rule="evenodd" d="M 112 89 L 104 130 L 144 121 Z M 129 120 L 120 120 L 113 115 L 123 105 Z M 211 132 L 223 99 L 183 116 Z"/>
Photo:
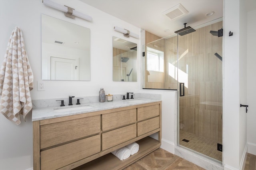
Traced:
<path fill-rule="evenodd" d="M 186 26 L 196 27 L 223 16 L 223 0 L 80 0 L 160 37 Z M 255 0 L 252 0 L 255 1 Z M 171 20 L 162 12 L 182 4 L 188 14 Z M 212 16 L 206 16 L 214 11 Z M 92 16 L 93 17 L 93 16 Z M 164 30 L 170 30 L 164 32 Z"/>

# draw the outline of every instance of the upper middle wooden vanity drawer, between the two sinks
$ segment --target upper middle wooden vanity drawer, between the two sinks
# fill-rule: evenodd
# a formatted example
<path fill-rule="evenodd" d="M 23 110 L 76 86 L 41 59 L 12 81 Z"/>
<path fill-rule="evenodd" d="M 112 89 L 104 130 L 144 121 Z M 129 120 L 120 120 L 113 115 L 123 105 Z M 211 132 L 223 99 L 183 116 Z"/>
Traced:
<path fill-rule="evenodd" d="M 136 109 L 129 109 L 102 115 L 102 130 L 122 127 L 136 122 Z"/>

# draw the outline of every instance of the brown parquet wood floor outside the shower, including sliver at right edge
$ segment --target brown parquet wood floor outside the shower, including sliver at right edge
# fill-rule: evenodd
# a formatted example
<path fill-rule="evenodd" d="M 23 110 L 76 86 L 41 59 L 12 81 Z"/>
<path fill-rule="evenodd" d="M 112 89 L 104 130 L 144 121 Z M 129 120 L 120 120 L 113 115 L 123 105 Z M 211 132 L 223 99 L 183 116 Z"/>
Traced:
<path fill-rule="evenodd" d="M 159 148 L 124 170 L 204 170 L 204 168 Z M 244 170 L 256 170 L 256 155 L 248 153 Z"/>

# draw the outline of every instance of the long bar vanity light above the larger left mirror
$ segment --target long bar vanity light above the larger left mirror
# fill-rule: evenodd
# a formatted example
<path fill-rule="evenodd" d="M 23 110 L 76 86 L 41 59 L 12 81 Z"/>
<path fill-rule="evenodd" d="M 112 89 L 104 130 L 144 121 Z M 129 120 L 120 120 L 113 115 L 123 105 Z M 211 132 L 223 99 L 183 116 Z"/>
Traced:
<path fill-rule="evenodd" d="M 55 2 L 52 2 L 51 0 L 42 0 L 44 5 L 50 6 L 52 8 L 55 8 L 57 10 L 60 10 L 62 12 L 65 12 L 65 16 L 70 17 L 70 18 L 75 18 L 75 16 L 82 18 L 87 21 L 92 21 L 92 17 L 88 16 L 86 14 L 83 14 L 81 12 L 76 11 L 74 8 L 70 8 L 68 6 L 62 6 L 60 4 L 57 4 Z"/>

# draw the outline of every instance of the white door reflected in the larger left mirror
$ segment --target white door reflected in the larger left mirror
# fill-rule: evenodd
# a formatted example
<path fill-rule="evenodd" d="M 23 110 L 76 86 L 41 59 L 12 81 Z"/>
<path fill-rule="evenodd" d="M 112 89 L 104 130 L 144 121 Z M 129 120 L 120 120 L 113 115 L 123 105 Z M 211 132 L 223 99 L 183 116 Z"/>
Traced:
<path fill-rule="evenodd" d="M 51 80 L 78 80 L 76 59 L 51 57 Z"/>

